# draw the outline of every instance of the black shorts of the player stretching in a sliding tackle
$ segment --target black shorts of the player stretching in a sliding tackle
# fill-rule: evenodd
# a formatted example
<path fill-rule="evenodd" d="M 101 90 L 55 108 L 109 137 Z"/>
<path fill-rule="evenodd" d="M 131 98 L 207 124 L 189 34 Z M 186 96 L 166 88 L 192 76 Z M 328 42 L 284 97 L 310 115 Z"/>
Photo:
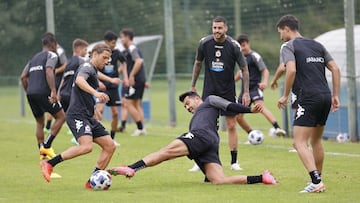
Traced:
<path fill-rule="evenodd" d="M 177 139 L 183 141 L 189 150 L 189 159 L 194 159 L 201 171 L 205 174 L 204 164 L 217 163 L 219 159 L 219 136 L 206 131 L 184 133 Z"/>

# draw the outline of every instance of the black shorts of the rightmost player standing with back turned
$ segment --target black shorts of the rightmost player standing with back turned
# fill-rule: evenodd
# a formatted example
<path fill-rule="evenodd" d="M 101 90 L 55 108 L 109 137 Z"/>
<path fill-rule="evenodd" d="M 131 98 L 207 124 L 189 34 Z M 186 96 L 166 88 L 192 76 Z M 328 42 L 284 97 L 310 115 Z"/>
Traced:
<path fill-rule="evenodd" d="M 331 108 L 331 94 L 315 94 L 300 96 L 296 112 L 294 113 L 294 126 L 316 127 L 324 126 Z"/>

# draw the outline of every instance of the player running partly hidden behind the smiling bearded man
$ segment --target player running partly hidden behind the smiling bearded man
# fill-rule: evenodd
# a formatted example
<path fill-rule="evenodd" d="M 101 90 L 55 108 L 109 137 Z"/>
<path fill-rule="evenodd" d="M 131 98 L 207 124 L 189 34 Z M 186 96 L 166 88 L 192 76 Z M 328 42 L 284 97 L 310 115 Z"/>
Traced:
<path fill-rule="evenodd" d="M 259 53 L 252 50 L 250 47 L 249 37 L 245 34 L 241 34 L 238 36 L 237 41 L 240 44 L 241 51 L 243 52 L 246 62 L 249 69 L 249 92 L 251 103 L 264 103 L 264 93 L 263 91 L 267 87 L 268 79 L 269 79 L 269 71 L 266 68 L 266 65 Z M 235 75 L 235 81 L 241 79 L 241 71 Z M 242 85 L 244 87 L 244 85 Z M 241 90 L 239 100 L 241 100 L 243 94 L 243 90 Z M 276 121 L 275 116 L 271 113 L 271 111 L 267 108 L 263 108 L 261 112 L 265 118 L 271 123 L 271 125 L 275 129 L 275 133 L 277 136 L 285 136 L 285 130 L 281 129 L 279 124 Z M 245 120 L 243 114 L 239 114 L 236 116 L 236 120 L 241 126 L 243 130 L 247 133 L 252 131 L 249 123 Z"/>

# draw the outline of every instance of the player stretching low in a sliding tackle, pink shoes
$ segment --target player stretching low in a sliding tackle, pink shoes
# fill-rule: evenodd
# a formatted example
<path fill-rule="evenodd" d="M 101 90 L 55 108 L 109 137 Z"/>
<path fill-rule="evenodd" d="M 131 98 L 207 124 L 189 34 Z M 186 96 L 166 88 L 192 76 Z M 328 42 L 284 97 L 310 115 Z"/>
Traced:
<path fill-rule="evenodd" d="M 128 167 L 112 167 L 108 171 L 112 175 L 132 177 L 136 171 L 155 166 L 163 161 L 187 156 L 194 159 L 205 174 L 205 182 L 212 184 L 276 184 L 269 171 L 261 175 L 237 175 L 227 177 L 219 159 L 219 110 L 234 113 L 261 112 L 262 105 L 255 104 L 252 108 L 232 103 L 219 96 L 209 95 L 203 101 L 196 92 L 185 92 L 179 96 L 187 111 L 193 114 L 189 132 L 182 134 L 160 151 L 151 153 Z"/>

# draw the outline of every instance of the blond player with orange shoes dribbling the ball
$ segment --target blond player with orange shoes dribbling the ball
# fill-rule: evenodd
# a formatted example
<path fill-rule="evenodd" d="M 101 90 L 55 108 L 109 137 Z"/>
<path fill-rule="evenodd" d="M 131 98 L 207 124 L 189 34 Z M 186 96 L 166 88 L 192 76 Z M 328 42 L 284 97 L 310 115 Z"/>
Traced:
<path fill-rule="evenodd" d="M 97 91 L 97 88 L 99 86 L 98 70 L 103 69 L 109 62 L 110 55 L 111 49 L 106 44 L 95 45 L 91 51 L 90 61 L 83 63 L 75 74 L 66 122 L 79 145 L 68 148 L 50 160 L 40 162 L 42 174 L 47 182 L 50 182 L 53 167 L 62 161 L 90 153 L 93 149 L 93 142 L 102 149 L 94 172 L 105 169 L 110 162 L 116 147 L 104 126 L 93 117 L 96 100 L 109 101 L 109 96 L 104 92 Z M 120 79 L 118 80 L 120 82 Z M 90 188 L 88 181 L 85 188 Z"/>

